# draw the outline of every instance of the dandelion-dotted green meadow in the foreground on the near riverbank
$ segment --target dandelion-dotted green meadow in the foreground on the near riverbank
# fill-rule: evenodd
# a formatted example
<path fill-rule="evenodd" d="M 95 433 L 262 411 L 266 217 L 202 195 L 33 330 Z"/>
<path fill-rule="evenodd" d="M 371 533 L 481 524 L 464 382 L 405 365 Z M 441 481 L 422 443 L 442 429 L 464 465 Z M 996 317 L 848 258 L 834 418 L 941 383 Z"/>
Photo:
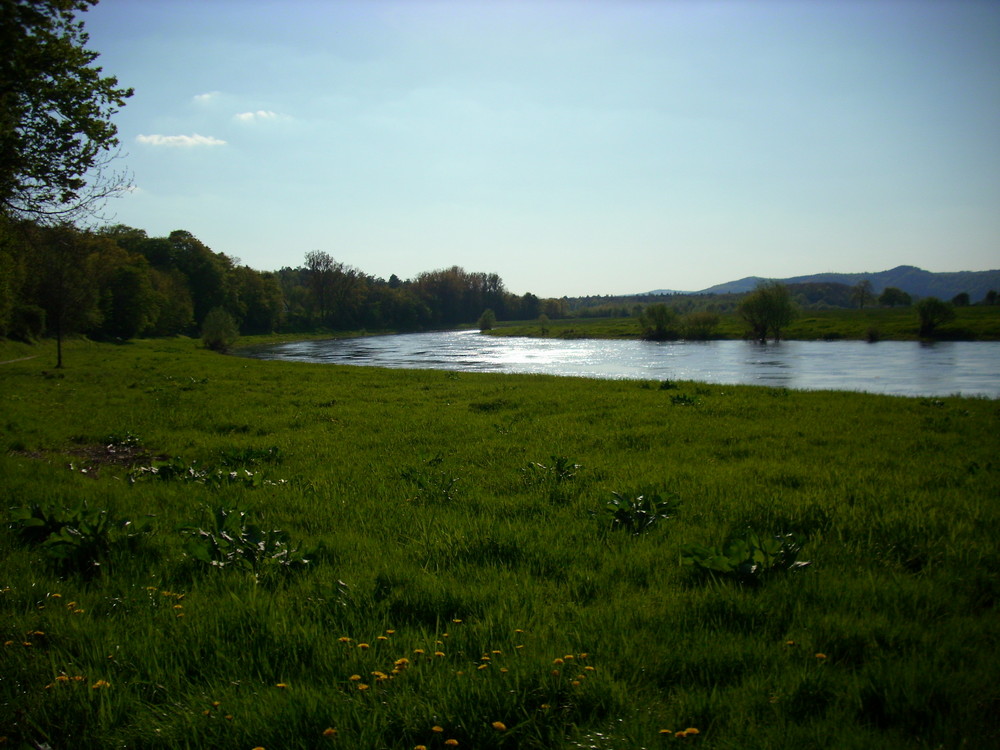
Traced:
<path fill-rule="evenodd" d="M 53 348 L 6 747 L 1000 745 L 996 400 Z"/>

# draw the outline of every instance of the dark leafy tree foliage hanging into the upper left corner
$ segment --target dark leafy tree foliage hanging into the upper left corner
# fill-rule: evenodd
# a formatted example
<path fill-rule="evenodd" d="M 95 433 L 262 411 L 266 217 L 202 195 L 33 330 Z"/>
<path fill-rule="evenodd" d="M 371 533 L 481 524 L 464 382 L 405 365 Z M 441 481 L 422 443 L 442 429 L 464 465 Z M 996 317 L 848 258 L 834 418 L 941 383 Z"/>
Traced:
<path fill-rule="evenodd" d="M 97 0 L 0 0 L 0 212 L 65 221 L 127 187 L 107 172 L 132 96 L 93 65 L 76 15 Z"/>

